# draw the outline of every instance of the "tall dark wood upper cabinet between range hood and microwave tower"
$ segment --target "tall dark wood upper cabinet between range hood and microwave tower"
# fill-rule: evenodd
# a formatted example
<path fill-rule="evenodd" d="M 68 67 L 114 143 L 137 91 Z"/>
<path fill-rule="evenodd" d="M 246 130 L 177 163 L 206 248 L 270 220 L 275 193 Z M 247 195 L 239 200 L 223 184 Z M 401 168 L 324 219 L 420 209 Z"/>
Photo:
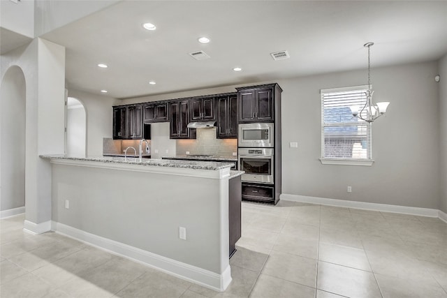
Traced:
<path fill-rule="evenodd" d="M 217 97 L 217 137 L 237 137 L 237 94 Z"/>

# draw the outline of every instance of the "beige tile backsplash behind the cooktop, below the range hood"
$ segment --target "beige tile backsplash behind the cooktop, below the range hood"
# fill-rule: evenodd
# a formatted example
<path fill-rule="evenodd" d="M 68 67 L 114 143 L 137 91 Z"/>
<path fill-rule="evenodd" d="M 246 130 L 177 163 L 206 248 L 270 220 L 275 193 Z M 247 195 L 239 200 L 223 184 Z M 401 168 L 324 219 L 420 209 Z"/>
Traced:
<path fill-rule="evenodd" d="M 217 139 L 217 128 L 200 128 L 196 140 L 177 140 L 177 155 L 209 154 L 232 156 L 237 152 L 237 139 Z"/>

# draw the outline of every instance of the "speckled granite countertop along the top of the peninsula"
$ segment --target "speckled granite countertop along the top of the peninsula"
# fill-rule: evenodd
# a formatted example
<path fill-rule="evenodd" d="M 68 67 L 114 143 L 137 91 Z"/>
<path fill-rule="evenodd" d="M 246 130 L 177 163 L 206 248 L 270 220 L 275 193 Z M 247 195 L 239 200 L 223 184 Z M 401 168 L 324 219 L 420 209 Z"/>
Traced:
<path fill-rule="evenodd" d="M 128 158 L 124 161 L 124 157 L 109 157 L 109 156 L 94 156 L 94 157 L 71 157 L 64 154 L 59 155 L 40 155 L 41 158 L 46 159 L 64 159 L 70 161 L 93 161 L 98 163 L 122 163 L 128 165 L 147 165 L 153 167 L 181 167 L 193 170 L 223 170 L 233 167 L 233 163 L 222 163 L 212 161 L 173 161 L 169 159 L 152 159 L 145 158 L 140 163 L 138 158 Z"/>

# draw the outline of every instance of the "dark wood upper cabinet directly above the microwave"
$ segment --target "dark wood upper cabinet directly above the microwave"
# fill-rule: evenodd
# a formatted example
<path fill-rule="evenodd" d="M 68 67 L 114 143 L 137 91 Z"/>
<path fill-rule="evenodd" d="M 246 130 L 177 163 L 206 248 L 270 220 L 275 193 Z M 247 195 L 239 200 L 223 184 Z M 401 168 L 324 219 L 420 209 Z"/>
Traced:
<path fill-rule="evenodd" d="M 240 123 L 274 121 L 274 100 L 282 91 L 278 84 L 236 89 Z"/>

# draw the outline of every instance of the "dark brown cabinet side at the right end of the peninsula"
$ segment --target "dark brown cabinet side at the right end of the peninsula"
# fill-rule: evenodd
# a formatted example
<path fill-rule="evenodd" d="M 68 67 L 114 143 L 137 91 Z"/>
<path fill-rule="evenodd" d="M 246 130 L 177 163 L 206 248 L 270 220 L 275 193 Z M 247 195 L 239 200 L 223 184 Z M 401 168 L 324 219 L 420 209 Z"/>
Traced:
<path fill-rule="evenodd" d="M 241 181 L 240 176 L 228 181 L 228 227 L 230 234 L 230 258 L 236 251 L 236 242 L 241 237 Z"/>

